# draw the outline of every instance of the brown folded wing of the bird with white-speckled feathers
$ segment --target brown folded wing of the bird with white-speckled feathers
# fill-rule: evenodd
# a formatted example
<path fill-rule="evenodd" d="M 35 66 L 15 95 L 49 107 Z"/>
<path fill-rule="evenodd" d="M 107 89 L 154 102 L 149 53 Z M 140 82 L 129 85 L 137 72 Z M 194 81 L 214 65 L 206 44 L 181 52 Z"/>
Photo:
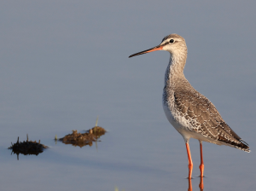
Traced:
<path fill-rule="evenodd" d="M 174 94 L 177 111 L 193 126 L 193 130 L 215 141 L 248 149 L 247 143 L 224 122 L 216 107 L 197 91 L 177 91 Z"/>

